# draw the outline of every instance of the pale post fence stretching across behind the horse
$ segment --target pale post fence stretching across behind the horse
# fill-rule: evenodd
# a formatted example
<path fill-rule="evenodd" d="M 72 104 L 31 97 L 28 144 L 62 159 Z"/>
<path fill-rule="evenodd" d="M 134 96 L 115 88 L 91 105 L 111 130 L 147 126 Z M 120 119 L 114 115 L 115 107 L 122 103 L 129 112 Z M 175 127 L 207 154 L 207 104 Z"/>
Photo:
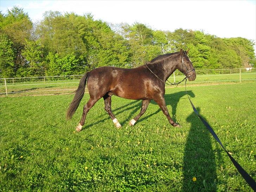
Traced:
<path fill-rule="evenodd" d="M 191 84 L 242 83 L 255 82 L 256 68 L 245 69 L 215 69 L 196 70 L 197 78 Z M 79 79 L 83 75 L 42 76 L 1 78 L 0 95 L 43 95 L 70 94 L 77 89 Z M 184 78 L 183 73 L 176 70 L 169 77 L 171 82 L 179 82 Z"/>

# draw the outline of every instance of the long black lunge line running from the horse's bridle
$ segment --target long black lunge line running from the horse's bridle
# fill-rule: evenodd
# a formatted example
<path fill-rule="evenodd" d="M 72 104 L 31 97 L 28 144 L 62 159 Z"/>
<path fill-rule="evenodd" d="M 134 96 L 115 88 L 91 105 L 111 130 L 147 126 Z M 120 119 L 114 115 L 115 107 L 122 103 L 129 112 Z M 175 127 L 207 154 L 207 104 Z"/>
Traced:
<path fill-rule="evenodd" d="M 186 88 L 186 83 L 187 83 L 187 79 L 185 81 L 185 90 L 187 93 L 187 88 Z M 228 154 L 229 158 L 231 159 L 232 163 L 235 165 L 235 167 L 237 168 L 238 172 L 242 175 L 242 177 L 245 179 L 245 181 L 248 183 L 248 185 L 252 188 L 252 190 L 254 190 L 256 192 L 256 182 L 255 180 L 253 180 L 251 178 L 251 176 L 243 169 L 243 167 L 241 167 L 241 165 L 238 164 L 238 162 L 226 151 L 225 147 L 222 145 L 222 142 L 219 140 L 219 137 L 216 135 L 216 133 L 214 132 L 214 130 L 211 128 L 211 126 L 203 119 L 203 117 L 201 117 L 199 115 L 199 113 L 197 112 L 194 104 L 192 103 L 192 101 L 190 100 L 188 94 L 187 97 L 192 105 L 192 108 L 194 110 L 194 112 L 198 115 L 198 117 L 200 118 L 200 120 L 204 123 L 205 127 L 209 130 L 209 132 L 212 134 L 212 136 L 214 137 L 214 139 L 216 139 L 216 141 L 218 141 L 218 143 L 220 144 L 220 146 L 222 146 L 222 148 L 224 149 L 224 151 Z"/>

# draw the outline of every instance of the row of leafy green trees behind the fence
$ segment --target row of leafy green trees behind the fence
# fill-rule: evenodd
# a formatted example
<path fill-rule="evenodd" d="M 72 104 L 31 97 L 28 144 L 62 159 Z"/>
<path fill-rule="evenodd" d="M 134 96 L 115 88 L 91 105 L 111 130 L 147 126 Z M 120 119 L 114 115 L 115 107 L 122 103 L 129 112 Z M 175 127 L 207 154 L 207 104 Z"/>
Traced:
<path fill-rule="evenodd" d="M 83 74 L 100 66 L 135 68 L 158 55 L 190 49 L 196 69 L 256 63 L 254 42 L 203 31 L 108 24 L 91 14 L 47 11 L 32 23 L 23 8 L 0 12 L 0 78 Z"/>

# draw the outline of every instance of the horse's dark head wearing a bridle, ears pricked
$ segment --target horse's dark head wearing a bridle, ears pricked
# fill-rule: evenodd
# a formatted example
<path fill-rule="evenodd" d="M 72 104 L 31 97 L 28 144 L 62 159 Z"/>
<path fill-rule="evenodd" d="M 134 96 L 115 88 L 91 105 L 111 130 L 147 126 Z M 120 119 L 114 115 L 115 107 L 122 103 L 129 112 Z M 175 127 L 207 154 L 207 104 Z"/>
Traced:
<path fill-rule="evenodd" d="M 188 81 L 194 81 L 197 77 L 197 74 L 191 60 L 187 56 L 187 53 L 188 51 L 180 49 L 180 64 L 178 65 L 178 69 L 180 72 L 184 73 L 184 75 L 188 78 Z"/>

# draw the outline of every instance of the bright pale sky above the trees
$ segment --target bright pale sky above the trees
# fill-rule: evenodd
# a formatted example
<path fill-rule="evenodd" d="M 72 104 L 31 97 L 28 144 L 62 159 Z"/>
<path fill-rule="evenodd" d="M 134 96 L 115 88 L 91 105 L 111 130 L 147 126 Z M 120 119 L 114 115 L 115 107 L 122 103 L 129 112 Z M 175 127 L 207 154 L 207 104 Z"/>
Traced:
<path fill-rule="evenodd" d="M 24 8 L 33 22 L 50 10 L 91 13 L 113 24 L 139 22 L 153 30 L 203 30 L 221 38 L 256 41 L 256 0 L 0 0 L 4 14 L 13 6 Z"/>

